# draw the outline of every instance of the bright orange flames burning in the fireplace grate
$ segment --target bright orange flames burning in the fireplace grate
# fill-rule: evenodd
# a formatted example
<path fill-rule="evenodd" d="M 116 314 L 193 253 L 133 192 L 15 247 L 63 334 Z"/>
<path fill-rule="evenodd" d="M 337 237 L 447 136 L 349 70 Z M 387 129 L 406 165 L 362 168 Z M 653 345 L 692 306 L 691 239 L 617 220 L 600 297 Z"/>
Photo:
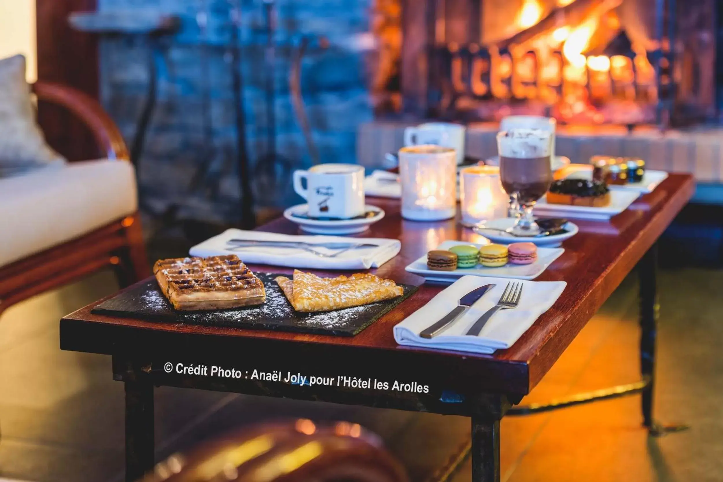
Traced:
<path fill-rule="evenodd" d="M 546 5 L 560 9 L 573 1 L 521 0 L 515 30 L 541 22 Z M 490 48 L 489 86 L 479 92 L 492 92 L 499 99 L 540 100 L 555 106 L 562 119 L 594 124 L 606 121 L 601 110 L 606 100 L 656 98 L 655 71 L 644 48 L 633 46 L 632 58 L 597 54 L 622 28 L 615 12 L 622 2 L 595 0 L 583 18 L 557 12 L 554 22 L 544 20 L 544 28 L 511 45 L 509 53 Z"/>

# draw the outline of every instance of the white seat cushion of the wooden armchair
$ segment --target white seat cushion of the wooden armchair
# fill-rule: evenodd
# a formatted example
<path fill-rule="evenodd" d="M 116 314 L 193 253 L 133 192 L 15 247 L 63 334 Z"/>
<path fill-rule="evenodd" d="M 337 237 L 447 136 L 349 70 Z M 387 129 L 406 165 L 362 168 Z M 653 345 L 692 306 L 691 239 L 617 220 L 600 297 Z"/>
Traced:
<path fill-rule="evenodd" d="M 89 160 L 0 178 L 0 266 L 90 233 L 137 210 L 135 171 Z"/>

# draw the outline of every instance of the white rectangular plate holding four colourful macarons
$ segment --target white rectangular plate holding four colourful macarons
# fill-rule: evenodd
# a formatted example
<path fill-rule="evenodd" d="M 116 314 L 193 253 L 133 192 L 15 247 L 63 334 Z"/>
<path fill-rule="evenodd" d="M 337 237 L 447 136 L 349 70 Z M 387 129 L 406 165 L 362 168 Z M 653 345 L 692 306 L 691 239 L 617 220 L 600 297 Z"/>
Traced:
<path fill-rule="evenodd" d="M 435 249 L 450 249 L 452 246 L 457 246 L 459 244 L 469 244 L 471 246 L 477 246 L 478 248 L 483 246 L 482 244 L 466 243 L 464 241 L 445 241 Z M 534 280 L 539 275 L 542 275 L 542 272 L 547 270 L 547 267 L 564 252 L 565 249 L 563 248 L 538 248 L 537 260 L 532 264 L 508 263 L 505 264 L 505 266 L 496 268 L 484 267 L 482 264 L 477 264 L 474 268 L 465 268 L 463 270 L 457 269 L 454 271 L 430 270 L 427 267 L 427 255 L 425 254 L 423 257 L 409 264 L 406 267 L 406 270 L 414 273 L 415 275 L 424 276 L 424 278 L 428 281 L 437 281 L 440 283 L 453 283 L 457 280 L 457 278 L 466 275 Z"/>

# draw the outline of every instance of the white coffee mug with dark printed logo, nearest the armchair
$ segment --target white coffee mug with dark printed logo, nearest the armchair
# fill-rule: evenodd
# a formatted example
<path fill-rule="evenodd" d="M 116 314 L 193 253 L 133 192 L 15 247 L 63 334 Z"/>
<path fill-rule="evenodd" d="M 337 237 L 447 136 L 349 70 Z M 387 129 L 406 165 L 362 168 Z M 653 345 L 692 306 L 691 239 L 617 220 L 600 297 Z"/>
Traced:
<path fill-rule="evenodd" d="M 303 180 L 307 187 L 304 188 Z M 319 164 L 294 171 L 294 191 L 307 200 L 309 217 L 349 219 L 364 214 L 364 167 Z"/>

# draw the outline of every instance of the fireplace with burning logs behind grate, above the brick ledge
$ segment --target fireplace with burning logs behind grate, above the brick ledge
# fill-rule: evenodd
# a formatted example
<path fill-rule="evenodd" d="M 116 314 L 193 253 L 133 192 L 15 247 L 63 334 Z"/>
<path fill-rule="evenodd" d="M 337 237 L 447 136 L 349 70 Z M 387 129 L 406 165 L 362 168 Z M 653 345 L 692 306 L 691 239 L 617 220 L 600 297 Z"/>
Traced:
<path fill-rule="evenodd" d="M 716 118 L 716 0 L 406 2 L 383 116 L 682 126 Z"/>

